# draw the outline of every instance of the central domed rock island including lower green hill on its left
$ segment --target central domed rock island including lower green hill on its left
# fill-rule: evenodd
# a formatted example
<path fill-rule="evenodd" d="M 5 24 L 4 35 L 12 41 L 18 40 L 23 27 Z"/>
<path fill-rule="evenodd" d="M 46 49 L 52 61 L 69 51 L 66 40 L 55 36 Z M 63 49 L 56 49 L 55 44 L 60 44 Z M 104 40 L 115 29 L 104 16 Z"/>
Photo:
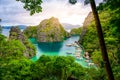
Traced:
<path fill-rule="evenodd" d="M 69 33 L 54 17 L 41 21 L 38 26 L 27 27 L 24 34 L 28 38 L 36 38 L 38 42 L 59 42 L 69 37 Z"/>

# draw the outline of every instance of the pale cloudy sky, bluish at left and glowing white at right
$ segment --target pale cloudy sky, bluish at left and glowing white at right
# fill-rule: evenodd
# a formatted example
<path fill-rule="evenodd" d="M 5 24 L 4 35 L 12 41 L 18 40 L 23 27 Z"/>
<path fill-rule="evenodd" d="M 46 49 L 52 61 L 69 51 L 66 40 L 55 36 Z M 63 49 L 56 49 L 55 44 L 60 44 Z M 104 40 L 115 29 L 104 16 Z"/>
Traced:
<path fill-rule="evenodd" d="M 96 0 L 98 4 L 102 0 Z M 52 16 L 59 19 L 61 23 L 82 25 L 85 17 L 91 11 L 90 5 L 84 6 L 83 0 L 71 5 L 68 0 L 43 0 L 43 11 L 29 15 L 29 11 L 23 9 L 23 4 L 16 0 L 0 0 L 1 25 L 38 25 L 41 20 Z"/>

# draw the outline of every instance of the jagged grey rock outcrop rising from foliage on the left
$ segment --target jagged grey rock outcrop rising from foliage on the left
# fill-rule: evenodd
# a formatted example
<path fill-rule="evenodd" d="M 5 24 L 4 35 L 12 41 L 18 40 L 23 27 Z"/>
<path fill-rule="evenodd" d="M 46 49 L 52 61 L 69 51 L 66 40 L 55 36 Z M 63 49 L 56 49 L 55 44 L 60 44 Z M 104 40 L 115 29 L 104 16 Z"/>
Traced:
<path fill-rule="evenodd" d="M 10 29 L 9 40 L 19 40 L 23 46 L 25 46 L 26 51 L 23 53 L 24 56 L 30 58 L 35 55 L 35 47 L 28 41 L 27 37 L 20 31 L 18 27 L 12 27 Z"/>

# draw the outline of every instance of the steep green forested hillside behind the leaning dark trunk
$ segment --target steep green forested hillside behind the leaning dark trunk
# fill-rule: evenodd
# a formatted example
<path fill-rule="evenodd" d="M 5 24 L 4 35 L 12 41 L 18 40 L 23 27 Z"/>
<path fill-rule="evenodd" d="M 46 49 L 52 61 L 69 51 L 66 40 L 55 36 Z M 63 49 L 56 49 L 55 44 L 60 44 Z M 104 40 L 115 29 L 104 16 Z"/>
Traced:
<path fill-rule="evenodd" d="M 100 5 L 98 7 L 108 56 L 116 80 L 120 78 L 120 67 L 118 67 L 120 66 L 120 9 L 118 5 L 114 5 L 115 7 L 113 8 L 111 6 L 118 3 L 120 3 L 120 1 L 110 0 L 109 2 L 108 0 L 107 3 L 102 3 L 102 6 Z M 102 69 L 104 65 L 94 21 L 87 27 L 82 45 L 85 47 L 86 51 L 91 54 L 93 62 Z"/>

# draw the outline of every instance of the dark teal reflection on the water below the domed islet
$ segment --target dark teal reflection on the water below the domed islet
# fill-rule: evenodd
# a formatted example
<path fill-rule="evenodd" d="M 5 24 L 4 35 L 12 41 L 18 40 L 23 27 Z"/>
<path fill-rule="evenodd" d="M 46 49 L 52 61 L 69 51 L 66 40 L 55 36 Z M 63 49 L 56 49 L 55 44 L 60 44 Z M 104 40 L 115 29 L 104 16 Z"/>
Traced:
<path fill-rule="evenodd" d="M 42 52 L 59 52 L 63 46 L 63 42 L 39 42 L 38 48 Z"/>

